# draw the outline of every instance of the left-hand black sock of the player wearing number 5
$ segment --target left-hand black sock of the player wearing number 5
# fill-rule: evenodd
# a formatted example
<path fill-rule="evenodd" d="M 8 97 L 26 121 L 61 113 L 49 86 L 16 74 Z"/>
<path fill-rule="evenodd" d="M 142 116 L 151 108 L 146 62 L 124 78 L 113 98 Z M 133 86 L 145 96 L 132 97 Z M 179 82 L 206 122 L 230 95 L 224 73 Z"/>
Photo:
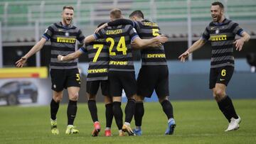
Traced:
<path fill-rule="evenodd" d="M 142 126 L 143 115 L 144 115 L 143 101 L 136 102 L 135 113 L 134 113 L 135 126 Z"/>

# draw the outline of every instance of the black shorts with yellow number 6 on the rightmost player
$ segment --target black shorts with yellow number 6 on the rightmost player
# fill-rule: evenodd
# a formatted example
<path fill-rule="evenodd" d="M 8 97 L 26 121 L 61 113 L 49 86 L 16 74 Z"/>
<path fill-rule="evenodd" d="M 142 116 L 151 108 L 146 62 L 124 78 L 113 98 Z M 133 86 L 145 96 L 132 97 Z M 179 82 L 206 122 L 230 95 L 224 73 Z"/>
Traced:
<path fill-rule="evenodd" d="M 234 67 L 232 66 L 211 68 L 209 89 L 213 89 L 216 83 L 225 84 L 225 86 L 228 86 L 228 82 L 230 82 L 233 72 Z"/>

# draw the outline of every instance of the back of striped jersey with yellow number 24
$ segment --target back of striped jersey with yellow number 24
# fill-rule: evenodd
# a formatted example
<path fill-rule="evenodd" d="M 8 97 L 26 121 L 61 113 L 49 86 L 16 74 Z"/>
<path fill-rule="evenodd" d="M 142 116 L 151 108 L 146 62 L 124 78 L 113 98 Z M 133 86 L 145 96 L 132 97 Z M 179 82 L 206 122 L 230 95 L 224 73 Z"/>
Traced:
<path fill-rule="evenodd" d="M 131 41 L 138 35 L 131 25 L 109 26 L 95 35 L 110 45 L 110 71 L 134 71 Z"/>

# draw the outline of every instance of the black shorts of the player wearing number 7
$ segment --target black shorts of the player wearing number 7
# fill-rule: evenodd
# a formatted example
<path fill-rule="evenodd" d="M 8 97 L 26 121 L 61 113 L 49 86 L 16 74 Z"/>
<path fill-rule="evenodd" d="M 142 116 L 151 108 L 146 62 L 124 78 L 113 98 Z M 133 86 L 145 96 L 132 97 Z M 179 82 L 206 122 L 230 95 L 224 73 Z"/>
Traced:
<path fill-rule="evenodd" d="M 102 89 L 103 96 L 110 96 L 108 80 L 95 80 L 86 82 L 86 92 L 96 95 L 99 87 Z"/>

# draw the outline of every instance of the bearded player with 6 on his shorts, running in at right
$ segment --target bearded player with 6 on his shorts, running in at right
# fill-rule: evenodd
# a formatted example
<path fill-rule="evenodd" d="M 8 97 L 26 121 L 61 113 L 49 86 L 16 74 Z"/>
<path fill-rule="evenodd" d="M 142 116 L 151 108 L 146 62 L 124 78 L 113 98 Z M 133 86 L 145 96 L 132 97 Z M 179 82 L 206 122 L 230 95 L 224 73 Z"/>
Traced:
<path fill-rule="evenodd" d="M 217 101 L 220 111 L 228 119 L 229 125 L 225 131 L 233 131 L 239 128 L 241 122 L 240 116 L 235 112 L 232 100 L 225 92 L 235 67 L 233 44 L 235 44 L 236 50 L 242 50 L 242 45 L 250 40 L 250 35 L 243 31 L 238 23 L 225 18 L 224 6 L 219 1 L 211 4 L 210 13 L 213 21 L 206 27 L 201 38 L 178 58 L 185 62 L 190 53 L 198 50 L 210 40 L 212 57 L 209 88 L 213 90 L 213 97 Z M 235 35 L 240 35 L 241 38 L 235 40 Z"/>

